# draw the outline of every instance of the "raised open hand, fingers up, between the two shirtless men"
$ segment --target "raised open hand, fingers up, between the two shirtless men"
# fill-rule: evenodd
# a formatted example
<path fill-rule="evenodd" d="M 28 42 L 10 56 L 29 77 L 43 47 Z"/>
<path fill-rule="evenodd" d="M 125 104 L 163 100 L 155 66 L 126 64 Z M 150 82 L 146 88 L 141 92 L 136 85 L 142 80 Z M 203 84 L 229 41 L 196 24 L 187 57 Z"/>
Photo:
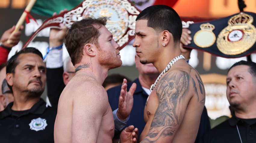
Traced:
<path fill-rule="evenodd" d="M 127 92 L 127 80 L 123 79 L 117 110 L 117 117 L 119 119 L 125 120 L 130 115 L 133 108 L 133 93 L 135 90 L 136 83 L 133 83 L 129 92 Z"/>

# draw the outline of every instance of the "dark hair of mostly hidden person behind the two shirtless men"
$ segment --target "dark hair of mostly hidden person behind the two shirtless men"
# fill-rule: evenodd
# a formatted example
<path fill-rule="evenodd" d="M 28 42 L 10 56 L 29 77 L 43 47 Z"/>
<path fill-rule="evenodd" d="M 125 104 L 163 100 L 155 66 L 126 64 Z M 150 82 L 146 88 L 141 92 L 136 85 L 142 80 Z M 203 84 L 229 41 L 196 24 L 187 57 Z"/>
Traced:
<path fill-rule="evenodd" d="M 127 83 L 131 82 L 129 78 L 122 74 L 110 74 L 108 75 L 108 77 L 106 77 L 106 79 L 102 83 L 102 86 L 105 88 L 109 84 L 122 84 L 124 78 L 127 80 Z"/>

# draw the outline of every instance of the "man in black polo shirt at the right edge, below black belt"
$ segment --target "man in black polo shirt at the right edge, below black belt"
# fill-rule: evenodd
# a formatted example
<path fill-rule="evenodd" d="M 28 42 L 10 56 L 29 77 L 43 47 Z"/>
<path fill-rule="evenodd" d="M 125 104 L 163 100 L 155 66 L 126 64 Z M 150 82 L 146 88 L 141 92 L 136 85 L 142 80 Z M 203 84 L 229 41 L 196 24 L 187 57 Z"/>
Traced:
<path fill-rule="evenodd" d="M 227 74 L 227 99 L 232 118 L 204 136 L 205 143 L 256 142 L 256 63 L 240 61 Z"/>

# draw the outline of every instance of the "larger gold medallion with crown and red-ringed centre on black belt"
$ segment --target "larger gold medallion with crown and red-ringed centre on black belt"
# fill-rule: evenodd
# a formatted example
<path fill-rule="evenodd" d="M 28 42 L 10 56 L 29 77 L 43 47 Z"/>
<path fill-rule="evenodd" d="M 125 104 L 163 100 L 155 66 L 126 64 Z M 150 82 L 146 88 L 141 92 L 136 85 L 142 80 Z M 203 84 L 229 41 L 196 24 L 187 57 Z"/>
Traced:
<path fill-rule="evenodd" d="M 256 41 L 256 28 L 253 17 L 239 13 L 231 17 L 217 38 L 218 49 L 226 55 L 242 54 L 250 49 Z"/>

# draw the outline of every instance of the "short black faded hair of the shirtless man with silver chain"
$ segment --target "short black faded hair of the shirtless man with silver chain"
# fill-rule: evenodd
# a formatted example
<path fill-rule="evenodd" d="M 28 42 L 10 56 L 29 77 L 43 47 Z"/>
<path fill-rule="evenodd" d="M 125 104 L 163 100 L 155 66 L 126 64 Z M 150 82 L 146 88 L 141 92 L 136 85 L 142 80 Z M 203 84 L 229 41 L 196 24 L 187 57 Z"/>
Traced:
<path fill-rule="evenodd" d="M 174 42 L 180 43 L 182 23 L 176 11 L 167 5 L 152 5 L 139 13 L 137 20 L 148 20 L 148 27 L 154 28 L 158 33 L 164 30 L 173 35 Z"/>

